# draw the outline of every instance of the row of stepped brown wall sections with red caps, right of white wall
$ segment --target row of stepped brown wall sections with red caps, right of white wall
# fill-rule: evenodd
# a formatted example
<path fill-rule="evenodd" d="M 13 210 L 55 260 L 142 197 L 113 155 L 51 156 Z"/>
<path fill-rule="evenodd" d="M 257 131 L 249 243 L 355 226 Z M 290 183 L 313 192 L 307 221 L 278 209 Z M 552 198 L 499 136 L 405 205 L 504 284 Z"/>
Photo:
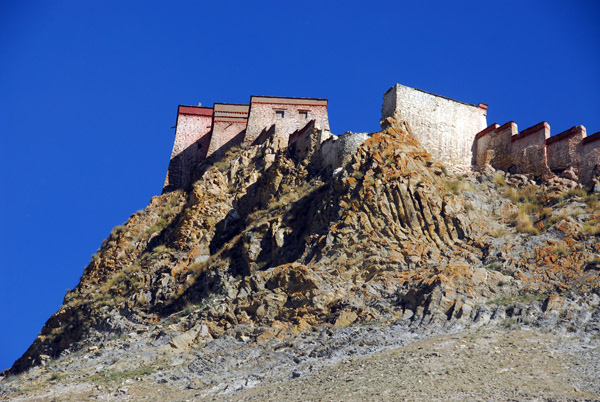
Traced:
<path fill-rule="evenodd" d="M 569 177 L 590 184 L 594 169 L 600 165 L 600 135 L 594 136 L 586 137 L 583 126 L 551 136 L 547 122 L 521 132 L 514 122 L 500 127 L 493 124 L 475 136 L 475 160 L 477 165 L 490 164 L 496 169 L 538 178 L 549 178 L 569 169 L 572 171 Z"/>

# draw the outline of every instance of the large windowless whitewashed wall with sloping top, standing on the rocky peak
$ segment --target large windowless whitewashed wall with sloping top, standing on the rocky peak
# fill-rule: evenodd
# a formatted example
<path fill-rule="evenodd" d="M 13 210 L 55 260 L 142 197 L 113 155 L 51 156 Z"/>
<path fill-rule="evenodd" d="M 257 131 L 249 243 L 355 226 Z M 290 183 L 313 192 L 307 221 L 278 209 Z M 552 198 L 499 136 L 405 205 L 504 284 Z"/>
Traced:
<path fill-rule="evenodd" d="M 458 102 L 396 84 L 383 96 L 382 120 L 404 120 L 412 136 L 438 160 L 461 166 L 473 163 L 475 135 L 487 126 L 487 106 Z"/>

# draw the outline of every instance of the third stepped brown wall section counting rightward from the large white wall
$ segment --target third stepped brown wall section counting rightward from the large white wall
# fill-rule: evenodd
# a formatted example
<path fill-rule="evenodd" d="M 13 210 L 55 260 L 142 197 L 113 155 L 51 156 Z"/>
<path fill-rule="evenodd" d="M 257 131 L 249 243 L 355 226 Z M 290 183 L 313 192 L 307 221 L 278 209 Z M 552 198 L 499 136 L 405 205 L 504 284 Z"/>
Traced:
<path fill-rule="evenodd" d="M 581 141 L 585 127 L 575 126 L 546 140 L 546 153 L 550 170 L 560 173 L 569 167 L 577 167 L 581 156 Z"/>

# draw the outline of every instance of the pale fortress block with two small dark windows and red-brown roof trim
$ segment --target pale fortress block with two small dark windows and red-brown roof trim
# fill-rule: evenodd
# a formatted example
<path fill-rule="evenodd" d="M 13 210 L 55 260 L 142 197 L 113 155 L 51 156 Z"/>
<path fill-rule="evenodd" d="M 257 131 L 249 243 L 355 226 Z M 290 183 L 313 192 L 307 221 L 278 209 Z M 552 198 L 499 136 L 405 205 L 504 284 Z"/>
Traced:
<path fill-rule="evenodd" d="M 252 96 L 244 144 L 252 144 L 273 125 L 276 136 L 288 136 L 311 120 L 316 128 L 329 130 L 327 99 Z"/>

